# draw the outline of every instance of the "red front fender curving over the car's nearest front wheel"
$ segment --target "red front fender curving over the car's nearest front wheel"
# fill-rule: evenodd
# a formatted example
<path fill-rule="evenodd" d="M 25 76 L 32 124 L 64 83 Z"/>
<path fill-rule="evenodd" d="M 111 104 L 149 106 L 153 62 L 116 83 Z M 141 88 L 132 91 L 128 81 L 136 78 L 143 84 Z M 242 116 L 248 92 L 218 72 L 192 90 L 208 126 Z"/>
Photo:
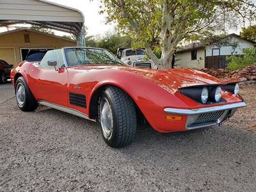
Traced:
<path fill-rule="evenodd" d="M 122 73 L 122 78 L 114 74 L 108 79 L 102 78 L 102 81 L 95 84 L 90 93 L 89 106 L 94 93 L 106 85 L 113 85 L 124 90 L 134 100 L 148 123 L 160 132 L 170 132 L 170 127 L 166 127 L 166 122 L 163 122 L 166 119 L 164 108 L 167 106 L 173 106 L 174 108 L 178 106 L 186 107 L 186 103 L 182 102 L 179 97 L 167 92 L 156 83 L 129 73 Z M 180 124 L 175 125 L 174 123 L 174 126 L 180 126 Z"/>

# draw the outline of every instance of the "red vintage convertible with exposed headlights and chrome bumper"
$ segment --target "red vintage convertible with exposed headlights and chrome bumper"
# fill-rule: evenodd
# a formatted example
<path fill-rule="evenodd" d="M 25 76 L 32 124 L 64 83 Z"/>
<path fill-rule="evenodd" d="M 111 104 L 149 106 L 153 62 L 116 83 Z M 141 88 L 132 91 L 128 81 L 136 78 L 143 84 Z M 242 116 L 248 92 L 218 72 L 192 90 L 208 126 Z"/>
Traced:
<path fill-rule="evenodd" d="M 111 147 L 131 143 L 138 115 L 159 132 L 220 124 L 246 106 L 238 83 L 198 70 L 126 67 L 105 49 L 65 47 L 12 70 L 17 105 L 38 104 L 99 121 Z"/>

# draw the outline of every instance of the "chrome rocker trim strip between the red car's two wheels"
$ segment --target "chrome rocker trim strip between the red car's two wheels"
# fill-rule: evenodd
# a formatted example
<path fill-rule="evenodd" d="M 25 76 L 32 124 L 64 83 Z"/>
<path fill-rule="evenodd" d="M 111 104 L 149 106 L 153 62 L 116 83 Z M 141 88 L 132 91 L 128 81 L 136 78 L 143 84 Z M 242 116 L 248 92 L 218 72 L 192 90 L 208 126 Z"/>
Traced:
<path fill-rule="evenodd" d="M 42 104 L 43 106 L 48 106 L 50 108 L 58 109 L 60 111 L 64 111 L 66 113 L 70 113 L 72 115 L 80 116 L 82 118 L 85 118 L 85 119 L 91 120 L 93 122 L 96 122 L 95 120 L 89 118 L 87 115 L 85 115 L 84 113 L 81 113 L 80 111 L 77 111 L 76 109 L 71 109 L 71 108 L 67 108 L 65 106 L 60 106 L 58 104 L 54 104 L 52 102 L 48 102 L 48 101 L 45 101 L 45 100 L 38 100 L 38 104 Z"/>

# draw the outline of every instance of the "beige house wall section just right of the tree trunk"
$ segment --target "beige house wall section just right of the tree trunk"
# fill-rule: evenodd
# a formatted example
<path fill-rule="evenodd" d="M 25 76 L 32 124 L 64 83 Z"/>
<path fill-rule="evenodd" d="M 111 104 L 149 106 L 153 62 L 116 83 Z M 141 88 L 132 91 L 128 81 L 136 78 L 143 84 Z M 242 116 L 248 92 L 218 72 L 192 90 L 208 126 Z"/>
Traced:
<path fill-rule="evenodd" d="M 196 50 L 196 60 L 191 60 L 191 51 L 177 52 L 175 56 L 175 68 L 204 68 L 205 50 L 203 48 Z"/>

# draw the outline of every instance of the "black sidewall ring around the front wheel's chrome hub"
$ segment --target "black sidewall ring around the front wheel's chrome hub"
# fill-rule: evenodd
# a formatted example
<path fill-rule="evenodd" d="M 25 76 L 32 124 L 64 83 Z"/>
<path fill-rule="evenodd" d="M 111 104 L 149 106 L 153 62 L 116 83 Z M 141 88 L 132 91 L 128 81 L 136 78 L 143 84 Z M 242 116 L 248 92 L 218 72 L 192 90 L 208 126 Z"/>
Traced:
<path fill-rule="evenodd" d="M 104 139 L 104 141 L 109 145 L 109 146 L 113 146 L 113 144 L 115 143 L 116 141 L 116 137 L 117 137 L 117 125 L 116 125 L 116 115 L 115 115 L 115 108 L 113 107 L 114 104 L 113 104 L 113 99 L 111 97 L 111 94 L 108 92 L 108 89 L 105 91 L 105 92 L 102 92 L 102 94 L 100 95 L 99 97 L 99 109 L 98 109 L 98 113 L 99 113 L 99 122 L 100 122 L 100 101 L 102 99 L 107 99 L 108 102 L 109 102 L 109 105 L 110 105 L 110 108 L 111 108 L 111 111 L 112 111 L 112 118 L 113 118 L 113 128 L 112 128 L 112 133 L 111 135 L 109 136 L 109 138 L 106 138 L 103 134 L 103 131 L 102 131 L 102 127 L 101 127 L 101 124 L 100 124 L 100 131 L 101 131 L 101 134 L 102 134 L 102 137 Z"/>

